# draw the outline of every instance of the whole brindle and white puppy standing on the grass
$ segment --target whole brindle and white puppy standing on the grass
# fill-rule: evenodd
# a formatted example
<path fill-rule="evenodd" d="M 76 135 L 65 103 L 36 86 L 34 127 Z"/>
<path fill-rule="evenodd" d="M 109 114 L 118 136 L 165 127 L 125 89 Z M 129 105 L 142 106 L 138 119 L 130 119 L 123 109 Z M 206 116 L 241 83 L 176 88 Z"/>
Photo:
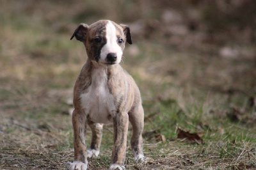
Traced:
<path fill-rule="evenodd" d="M 102 127 L 113 123 L 114 146 L 109 169 L 124 169 L 129 121 L 132 125 L 131 148 L 135 160 L 143 160 L 142 136 L 144 111 L 140 91 L 131 75 L 120 65 L 125 42 L 132 44 L 128 26 L 99 20 L 80 24 L 70 38 L 84 43 L 88 59 L 74 86 L 74 162 L 71 169 L 87 169 L 87 157 L 100 152 Z M 86 125 L 92 129 L 92 142 L 86 150 Z"/>

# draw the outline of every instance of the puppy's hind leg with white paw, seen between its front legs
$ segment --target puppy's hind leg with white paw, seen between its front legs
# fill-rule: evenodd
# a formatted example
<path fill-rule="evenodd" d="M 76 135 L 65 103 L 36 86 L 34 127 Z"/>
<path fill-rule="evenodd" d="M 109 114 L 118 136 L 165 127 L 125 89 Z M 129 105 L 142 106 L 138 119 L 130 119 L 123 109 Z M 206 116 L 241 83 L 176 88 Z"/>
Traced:
<path fill-rule="evenodd" d="M 87 157 L 97 157 L 100 153 L 100 142 L 102 139 L 102 123 L 94 123 L 90 120 L 87 121 L 92 130 L 92 142 L 90 148 L 87 150 Z"/>

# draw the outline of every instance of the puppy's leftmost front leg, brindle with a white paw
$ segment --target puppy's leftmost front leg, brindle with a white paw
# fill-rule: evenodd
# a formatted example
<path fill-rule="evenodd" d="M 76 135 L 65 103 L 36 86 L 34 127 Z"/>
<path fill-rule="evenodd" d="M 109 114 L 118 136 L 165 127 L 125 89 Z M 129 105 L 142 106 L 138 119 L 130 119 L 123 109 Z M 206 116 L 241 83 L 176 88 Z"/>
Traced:
<path fill-rule="evenodd" d="M 87 169 L 87 153 L 85 144 L 86 116 L 83 111 L 73 111 L 72 124 L 74 129 L 74 162 L 70 164 L 70 169 Z"/>

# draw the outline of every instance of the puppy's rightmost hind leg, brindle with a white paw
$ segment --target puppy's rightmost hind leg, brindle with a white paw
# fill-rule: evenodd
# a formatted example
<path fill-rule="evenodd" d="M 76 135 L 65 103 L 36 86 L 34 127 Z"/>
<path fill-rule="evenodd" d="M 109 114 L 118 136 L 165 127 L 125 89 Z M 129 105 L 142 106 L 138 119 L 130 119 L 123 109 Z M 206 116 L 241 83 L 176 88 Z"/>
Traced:
<path fill-rule="evenodd" d="M 143 160 L 142 131 L 144 127 L 144 111 L 141 104 L 129 112 L 129 121 L 132 124 L 131 148 L 134 160 Z"/>

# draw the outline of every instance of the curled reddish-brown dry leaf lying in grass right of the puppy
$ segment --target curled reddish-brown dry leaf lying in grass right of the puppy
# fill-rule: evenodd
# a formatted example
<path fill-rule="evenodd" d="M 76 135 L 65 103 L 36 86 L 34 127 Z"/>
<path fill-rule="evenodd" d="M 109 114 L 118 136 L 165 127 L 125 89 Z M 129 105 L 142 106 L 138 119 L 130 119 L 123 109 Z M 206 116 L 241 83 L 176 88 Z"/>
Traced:
<path fill-rule="evenodd" d="M 203 135 L 202 133 L 190 133 L 178 128 L 177 138 L 186 139 L 186 141 L 189 141 L 190 143 L 202 144 L 204 143 L 203 139 L 201 139 L 202 135 Z"/>

